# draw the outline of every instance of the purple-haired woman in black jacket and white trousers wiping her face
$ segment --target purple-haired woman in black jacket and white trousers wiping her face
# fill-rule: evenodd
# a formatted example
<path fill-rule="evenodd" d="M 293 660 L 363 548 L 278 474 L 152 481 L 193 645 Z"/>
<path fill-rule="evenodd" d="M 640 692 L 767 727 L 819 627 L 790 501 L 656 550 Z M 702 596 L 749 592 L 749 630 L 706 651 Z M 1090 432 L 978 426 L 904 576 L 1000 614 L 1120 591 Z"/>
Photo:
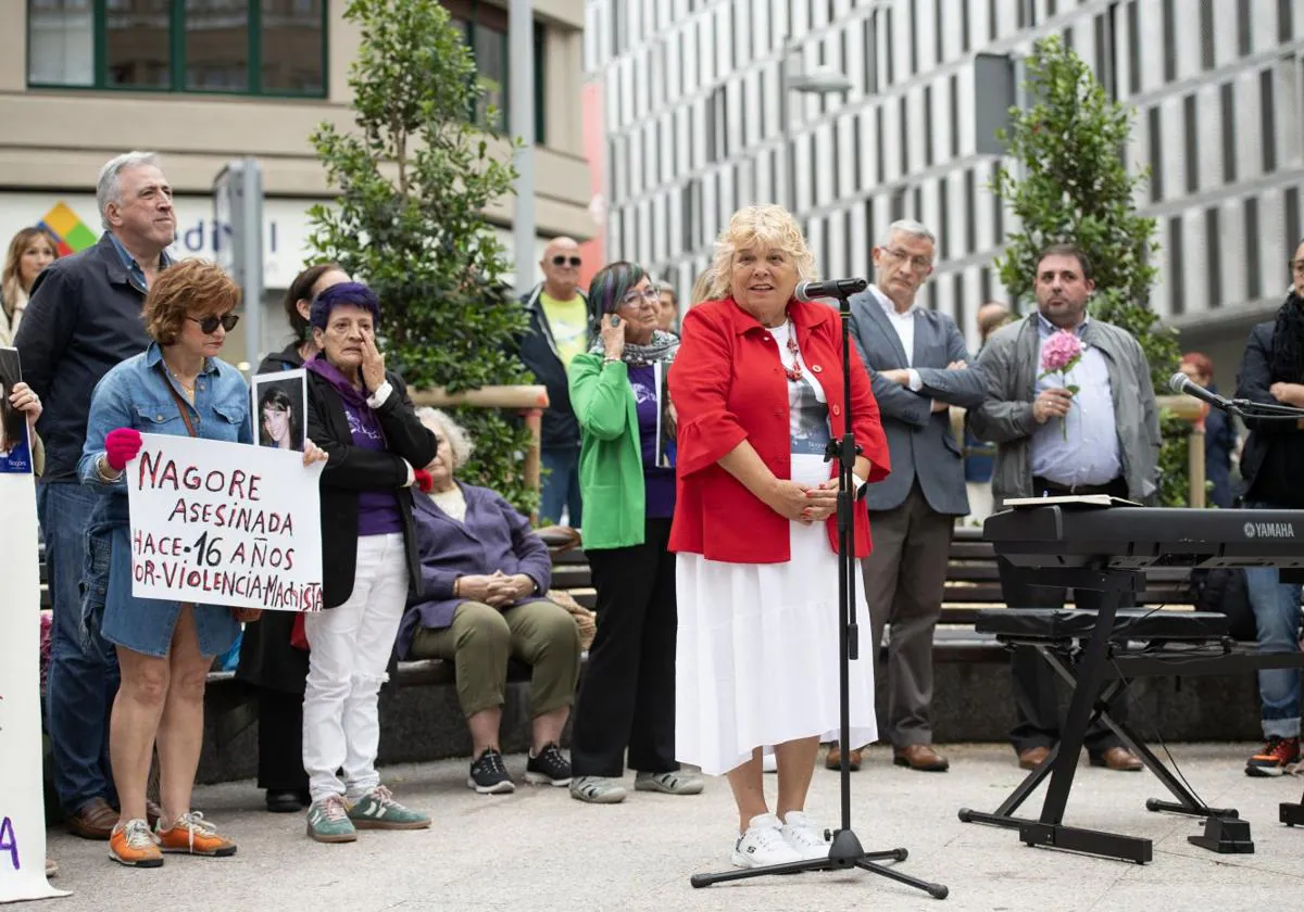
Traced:
<path fill-rule="evenodd" d="M 385 370 L 379 323 L 366 285 L 346 281 L 313 298 L 321 353 L 308 362 L 308 436 L 330 461 L 321 479 L 325 610 L 304 616 L 304 770 L 308 835 L 326 843 L 353 842 L 357 829 L 430 826 L 376 771 L 377 698 L 408 588 L 420 581 L 411 485 L 436 453 L 403 380 Z"/>

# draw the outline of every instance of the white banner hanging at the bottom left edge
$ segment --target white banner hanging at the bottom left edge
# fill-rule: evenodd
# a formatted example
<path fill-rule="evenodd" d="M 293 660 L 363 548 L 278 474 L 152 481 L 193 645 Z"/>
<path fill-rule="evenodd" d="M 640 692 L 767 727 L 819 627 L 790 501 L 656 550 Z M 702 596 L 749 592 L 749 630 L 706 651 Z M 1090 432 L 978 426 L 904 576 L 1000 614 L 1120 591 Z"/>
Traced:
<path fill-rule="evenodd" d="M 0 903 L 67 896 L 46 882 L 40 770 L 40 568 L 37 489 L 0 474 Z"/>

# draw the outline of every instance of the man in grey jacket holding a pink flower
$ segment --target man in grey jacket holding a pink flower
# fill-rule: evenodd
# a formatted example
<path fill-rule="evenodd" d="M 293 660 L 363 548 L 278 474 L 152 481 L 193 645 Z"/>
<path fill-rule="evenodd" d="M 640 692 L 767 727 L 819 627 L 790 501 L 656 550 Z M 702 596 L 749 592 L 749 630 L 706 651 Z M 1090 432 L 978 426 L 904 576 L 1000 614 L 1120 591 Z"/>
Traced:
<path fill-rule="evenodd" d="M 1158 487 L 1159 409 L 1150 365 L 1125 330 L 1089 319 L 1095 284 L 1078 248 L 1047 248 L 1037 264 L 1037 313 L 999 330 L 978 358 L 986 401 L 968 414 L 978 439 L 996 444 L 992 496 L 1110 494 L 1149 503 Z M 1028 585 L 999 559 L 1000 585 L 1011 608 L 1063 607 L 1067 591 Z M 1073 593 L 1094 610 L 1099 593 Z M 1033 649 L 1011 661 L 1017 722 L 1011 741 L 1018 765 L 1033 769 L 1059 740 L 1056 676 Z M 1125 718 L 1120 702 L 1115 718 Z M 1140 770 L 1141 761 L 1104 724 L 1086 734 L 1093 765 Z"/>

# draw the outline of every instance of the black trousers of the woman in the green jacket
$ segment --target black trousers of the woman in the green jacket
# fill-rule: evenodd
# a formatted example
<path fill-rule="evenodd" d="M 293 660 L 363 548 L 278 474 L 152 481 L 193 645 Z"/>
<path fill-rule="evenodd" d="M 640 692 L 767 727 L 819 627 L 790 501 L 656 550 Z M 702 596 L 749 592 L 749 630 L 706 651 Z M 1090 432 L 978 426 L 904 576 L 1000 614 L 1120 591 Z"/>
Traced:
<path fill-rule="evenodd" d="M 643 545 L 585 550 L 597 589 L 597 637 L 588 650 L 571 734 L 571 771 L 619 778 L 679 769 L 674 760 L 674 648 L 678 612 L 670 520 L 645 520 Z"/>

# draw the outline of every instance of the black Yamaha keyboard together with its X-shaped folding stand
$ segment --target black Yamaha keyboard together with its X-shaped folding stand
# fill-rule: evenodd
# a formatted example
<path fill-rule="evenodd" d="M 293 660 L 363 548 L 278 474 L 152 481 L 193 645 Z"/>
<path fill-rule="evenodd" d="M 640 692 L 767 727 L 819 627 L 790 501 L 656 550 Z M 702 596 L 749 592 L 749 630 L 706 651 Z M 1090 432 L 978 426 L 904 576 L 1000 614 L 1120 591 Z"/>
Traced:
<path fill-rule="evenodd" d="M 1030 648 L 1073 688 L 1060 740 L 1050 757 L 992 813 L 961 808 L 964 822 L 1017 829 L 1028 846 L 1060 848 L 1145 864 L 1149 839 L 1064 825 L 1064 809 L 1088 726 L 1107 726 L 1136 753 L 1178 801 L 1146 801 L 1162 810 L 1205 819 L 1205 833 L 1188 840 L 1215 852 L 1253 852 L 1249 823 L 1234 808 L 1210 808 L 1170 771 L 1115 707 L 1127 680 L 1148 675 L 1230 675 L 1266 668 L 1300 668 L 1299 650 L 1262 653 L 1222 636 L 1219 618 L 1191 611 L 1129 611 L 1149 567 L 1277 567 L 1282 580 L 1304 572 L 1304 511 L 1168 509 L 1097 502 L 1020 503 L 987 517 L 983 538 L 998 556 L 1020 568 L 1034 586 L 1101 593 L 1095 611 L 998 608 L 978 615 L 978 629 L 1008 646 Z M 1146 625 L 1150 621 L 1159 625 Z M 1129 642 L 1149 638 L 1140 650 Z M 1018 806 L 1050 778 L 1037 818 Z M 1304 803 L 1282 804 L 1281 821 L 1304 825 Z"/>

